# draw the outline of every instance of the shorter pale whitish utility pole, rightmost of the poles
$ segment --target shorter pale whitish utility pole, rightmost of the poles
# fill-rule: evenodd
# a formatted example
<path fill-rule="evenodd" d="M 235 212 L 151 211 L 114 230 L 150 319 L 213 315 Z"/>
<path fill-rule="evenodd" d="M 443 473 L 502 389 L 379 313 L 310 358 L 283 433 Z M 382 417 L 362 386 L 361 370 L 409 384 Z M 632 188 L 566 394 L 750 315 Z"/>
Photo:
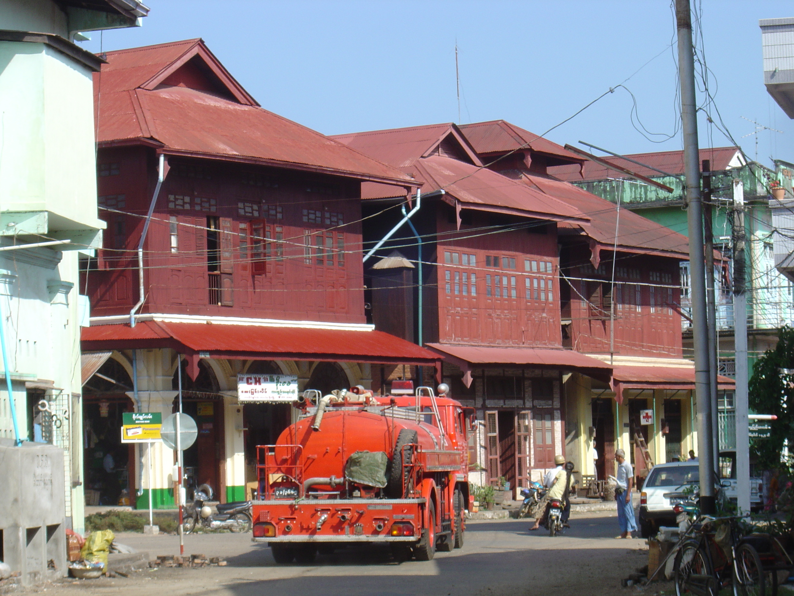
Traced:
<path fill-rule="evenodd" d="M 747 428 L 747 259 L 744 221 L 744 185 L 734 179 L 734 358 L 736 362 L 736 505 L 750 511 L 750 431 Z"/>

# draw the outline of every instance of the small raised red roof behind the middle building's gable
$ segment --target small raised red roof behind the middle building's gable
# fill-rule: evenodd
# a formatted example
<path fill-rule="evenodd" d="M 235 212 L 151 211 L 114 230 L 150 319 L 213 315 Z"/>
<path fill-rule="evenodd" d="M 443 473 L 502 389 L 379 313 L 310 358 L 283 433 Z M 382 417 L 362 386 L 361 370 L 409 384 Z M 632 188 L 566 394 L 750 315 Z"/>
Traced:
<path fill-rule="evenodd" d="M 524 130 L 520 126 L 515 126 L 515 124 L 504 120 L 461 124 L 458 127 L 477 153 L 507 153 L 526 147 L 532 151 L 552 156 L 557 161 L 577 164 L 576 168 L 584 161 L 584 158 L 565 149 L 562 145 L 538 137 L 537 134 L 530 133 L 529 130 Z"/>

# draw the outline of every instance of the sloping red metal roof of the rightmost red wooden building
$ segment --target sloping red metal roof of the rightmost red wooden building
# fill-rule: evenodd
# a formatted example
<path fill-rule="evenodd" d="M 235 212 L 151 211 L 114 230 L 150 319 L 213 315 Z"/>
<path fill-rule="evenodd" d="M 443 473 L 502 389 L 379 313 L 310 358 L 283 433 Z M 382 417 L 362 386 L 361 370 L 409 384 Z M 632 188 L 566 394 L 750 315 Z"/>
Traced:
<path fill-rule="evenodd" d="M 584 233 L 602 244 L 604 248 L 614 246 L 615 230 L 617 230 L 618 250 L 629 252 L 639 250 L 648 253 L 650 249 L 659 253 L 676 253 L 676 257 L 680 258 L 686 258 L 688 255 L 689 241 L 683 234 L 628 209 L 620 211 L 618 221 L 618 210 L 614 203 L 568 182 L 528 172 L 523 172 L 523 178 L 526 184 L 532 184 L 538 190 L 569 203 L 587 215 L 590 218 L 590 225 L 584 228 Z"/>

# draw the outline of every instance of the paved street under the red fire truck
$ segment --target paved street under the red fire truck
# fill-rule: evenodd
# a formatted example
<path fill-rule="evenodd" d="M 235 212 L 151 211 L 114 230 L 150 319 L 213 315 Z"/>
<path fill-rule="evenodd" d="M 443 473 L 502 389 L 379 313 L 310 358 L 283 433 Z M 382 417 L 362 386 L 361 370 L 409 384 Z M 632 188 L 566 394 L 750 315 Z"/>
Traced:
<path fill-rule="evenodd" d="M 615 540 L 615 514 L 572 517 L 567 535 L 528 532 L 529 521 L 469 521 L 461 550 L 437 553 L 428 563 L 395 563 L 386 548 L 349 548 L 320 555 L 308 566 L 279 566 L 267 545 L 249 536 L 187 536 L 186 554 L 225 556 L 228 567 L 164 568 L 130 579 L 99 579 L 57 586 L 80 596 L 518 596 L 617 594 L 620 579 L 647 563 L 644 540 Z M 175 536 L 124 534 L 118 542 L 156 555 L 178 553 Z"/>

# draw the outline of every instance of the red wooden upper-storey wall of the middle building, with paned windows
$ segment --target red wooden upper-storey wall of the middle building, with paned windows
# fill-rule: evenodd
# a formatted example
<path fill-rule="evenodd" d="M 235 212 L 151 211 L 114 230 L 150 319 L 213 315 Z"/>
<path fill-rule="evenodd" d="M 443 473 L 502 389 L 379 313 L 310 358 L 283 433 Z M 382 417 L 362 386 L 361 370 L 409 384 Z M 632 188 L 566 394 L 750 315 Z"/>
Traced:
<path fill-rule="evenodd" d="M 517 219 L 490 233 L 495 218 L 470 211 L 456 230 L 437 214 L 438 341 L 561 346 L 555 226 Z"/>

